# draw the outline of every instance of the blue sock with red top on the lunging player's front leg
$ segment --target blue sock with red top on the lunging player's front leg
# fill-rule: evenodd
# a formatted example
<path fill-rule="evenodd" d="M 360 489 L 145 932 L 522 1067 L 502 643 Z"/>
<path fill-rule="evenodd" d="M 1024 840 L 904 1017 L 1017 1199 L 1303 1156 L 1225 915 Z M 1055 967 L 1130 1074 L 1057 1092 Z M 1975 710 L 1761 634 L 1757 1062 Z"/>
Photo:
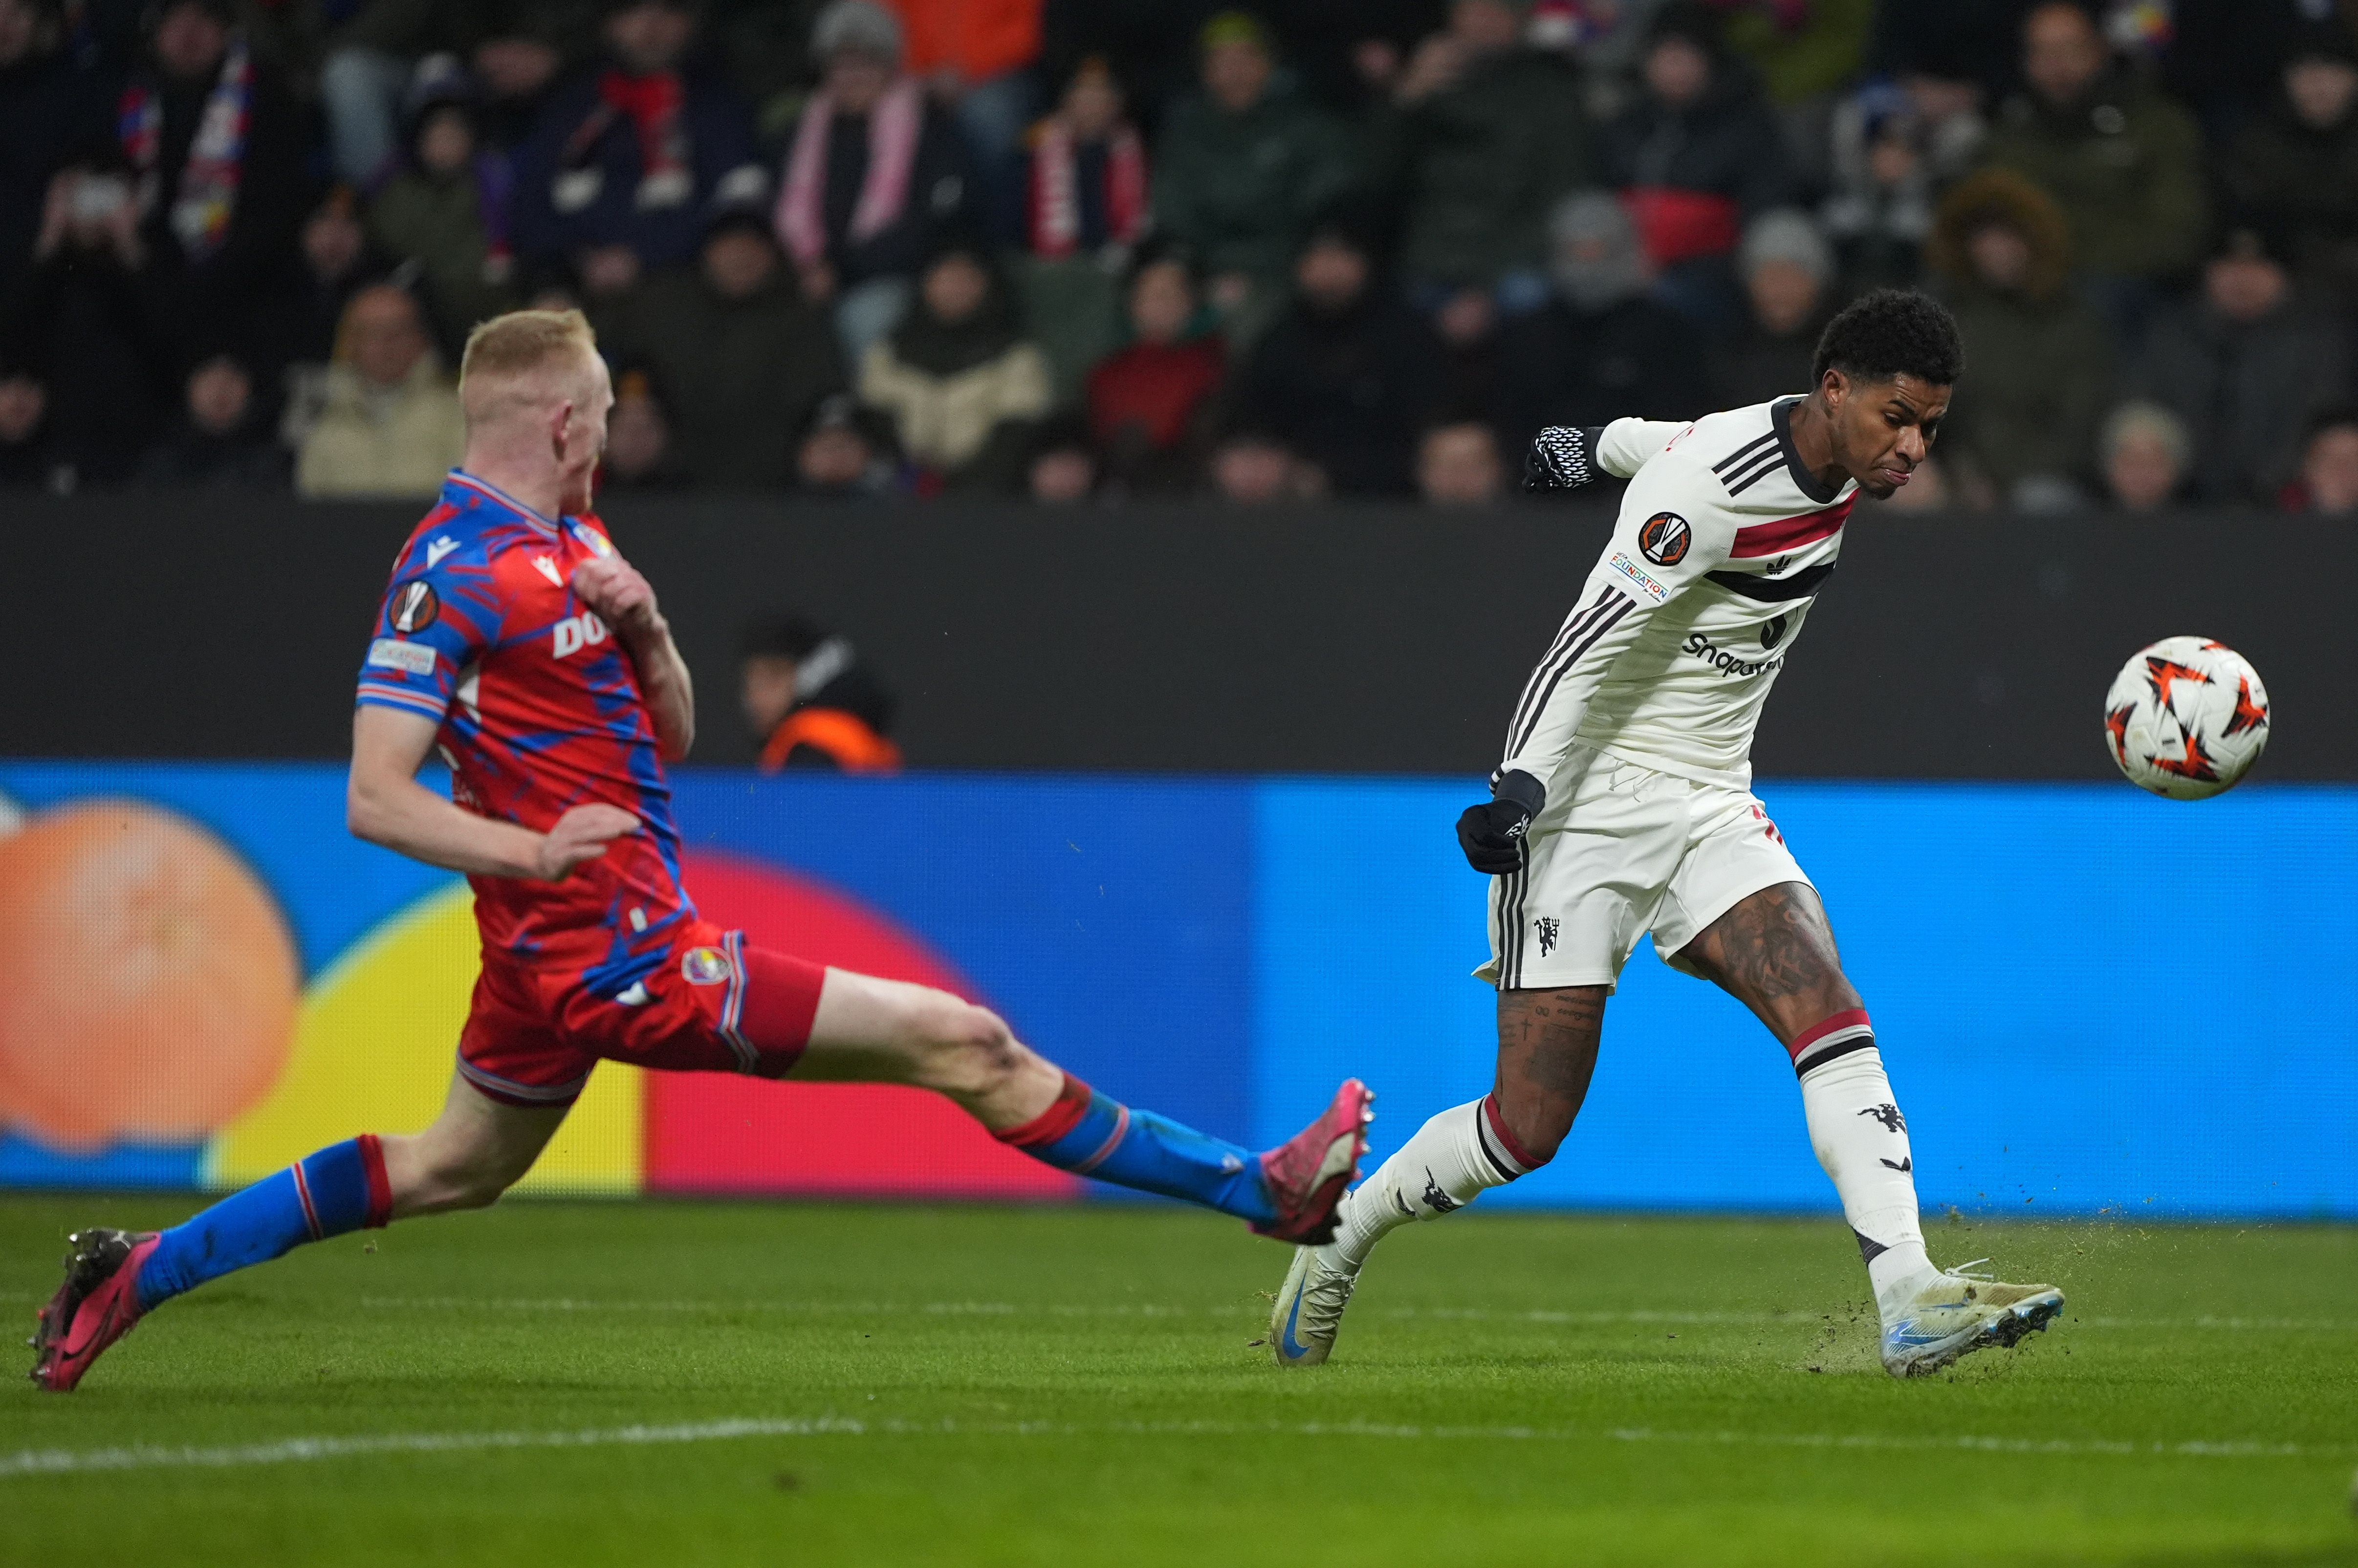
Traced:
<path fill-rule="evenodd" d="M 1132 1111 L 1071 1073 L 1054 1106 L 997 1139 L 1075 1177 L 1186 1198 L 1254 1224 L 1278 1219 L 1257 1153 L 1167 1115 Z"/>

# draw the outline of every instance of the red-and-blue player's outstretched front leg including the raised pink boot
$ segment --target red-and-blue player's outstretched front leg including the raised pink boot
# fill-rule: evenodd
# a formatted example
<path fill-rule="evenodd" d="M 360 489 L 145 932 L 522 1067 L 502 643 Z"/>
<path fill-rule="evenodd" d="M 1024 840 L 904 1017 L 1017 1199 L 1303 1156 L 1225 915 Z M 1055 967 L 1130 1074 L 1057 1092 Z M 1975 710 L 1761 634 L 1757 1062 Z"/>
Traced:
<path fill-rule="evenodd" d="M 1358 1177 L 1370 1101 L 1356 1078 L 1299 1134 L 1259 1153 L 1099 1094 L 946 990 L 828 969 L 790 1078 L 905 1082 L 957 1101 L 1035 1160 L 1245 1219 L 1278 1240 L 1325 1240 Z"/>

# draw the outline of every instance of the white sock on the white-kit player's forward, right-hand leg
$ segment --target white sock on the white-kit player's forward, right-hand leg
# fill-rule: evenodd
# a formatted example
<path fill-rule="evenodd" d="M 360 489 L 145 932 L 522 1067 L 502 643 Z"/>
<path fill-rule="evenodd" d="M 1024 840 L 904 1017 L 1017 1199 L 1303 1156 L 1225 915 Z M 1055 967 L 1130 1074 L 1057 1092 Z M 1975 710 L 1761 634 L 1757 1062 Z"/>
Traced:
<path fill-rule="evenodd" d="M 1802 1111 L 1809 1115 L 1818 1165 L 1835 1179 L 1842 1217 L 1851 1221 L 1858 1252 L 1868 1259 L 1875 1306 L 1889 1320 L 1938 1271 L 1924 1257 L 1908 1118 L 1891 1096 L 1865 1014 L 1858 1019 L 1856 1033 L 1842 1030 L 1849 1040 L 1818 1040 L 1816 1049 L 1804 1052 Z"/>

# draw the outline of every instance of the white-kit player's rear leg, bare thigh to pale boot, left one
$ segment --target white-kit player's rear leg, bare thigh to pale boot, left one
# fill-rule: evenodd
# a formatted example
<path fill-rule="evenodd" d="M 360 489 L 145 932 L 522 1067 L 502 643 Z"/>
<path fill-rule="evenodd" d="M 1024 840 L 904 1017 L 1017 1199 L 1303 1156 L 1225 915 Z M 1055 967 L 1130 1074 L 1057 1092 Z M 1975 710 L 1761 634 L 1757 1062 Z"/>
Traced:
<path fill-rule="evenodd" d="M 1391 1231 L 1441 1219 L 1556 1158 L 1596 1070 L 1606 988 L 1497 993 L 1497 1085 L 1431 1118 L 1337 1212 L 1335 1240 L 1299 1247 L 1269 1316 L 1278 1365 L 1335 1349 L 1361 1264 Z"/>

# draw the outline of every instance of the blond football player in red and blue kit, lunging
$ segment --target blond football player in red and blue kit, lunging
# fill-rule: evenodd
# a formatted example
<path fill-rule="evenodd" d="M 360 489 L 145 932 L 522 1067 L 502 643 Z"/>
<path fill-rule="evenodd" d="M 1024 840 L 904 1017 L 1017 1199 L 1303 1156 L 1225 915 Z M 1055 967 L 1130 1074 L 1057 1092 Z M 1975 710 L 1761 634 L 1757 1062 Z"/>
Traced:
<path fill-rule="evenodd" d="M 656 592 L 590 514 L 613 403 L 578 311 L 516 311 L 467 342 L 467 457 L 410 535 L 361 665 L 347 816 L 467 872 L 483 974 L 441 1118 L 363 1134 L 163 1233 L 73 1236 L 33 1382 L 73 1389 L 163 1302 L 307 1240 L 483 1207 L 514 1186 L 599 1061 L 903 1082 L 1059 1170 L 1323 1243 L 1365 1148 L 1349 1080 L 1252 1153 L 1132 1111 L 948 993 L 823 969 L 700 920 L 679 884 L 665 764 L 696 729 Z M 450 799 L 417 783 L 450 766 Z"/>

